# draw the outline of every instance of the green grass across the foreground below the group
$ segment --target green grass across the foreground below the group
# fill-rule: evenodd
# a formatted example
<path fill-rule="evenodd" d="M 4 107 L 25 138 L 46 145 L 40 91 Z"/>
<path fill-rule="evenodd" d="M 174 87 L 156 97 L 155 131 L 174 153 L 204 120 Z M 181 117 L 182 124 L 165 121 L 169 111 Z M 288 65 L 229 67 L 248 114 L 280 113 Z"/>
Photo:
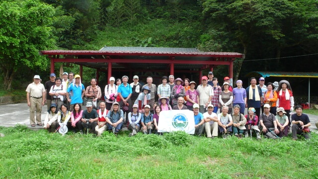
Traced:
<path fill-rule="evenodd" d="M 208 139 L 121 132 L 91 135 L 0 127 L 0 178 L 318 178 L 318 135 L 310 141 Z"/>

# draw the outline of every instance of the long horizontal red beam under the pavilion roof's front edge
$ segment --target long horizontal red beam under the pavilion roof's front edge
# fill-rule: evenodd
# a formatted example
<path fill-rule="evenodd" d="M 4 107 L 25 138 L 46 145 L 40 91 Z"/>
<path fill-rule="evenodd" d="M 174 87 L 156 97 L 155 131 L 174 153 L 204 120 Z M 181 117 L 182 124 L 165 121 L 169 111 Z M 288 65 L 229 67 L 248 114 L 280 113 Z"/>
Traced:
<path fill-rule="evenodd" d="M 205 61 L 205 60 L 145 60 L 145 59 L 53 59 L 55 62 L 79 63 L 152 63 L 152 64 L 204 64 L 204 65 L 230 65 L 230 61 Z"/>

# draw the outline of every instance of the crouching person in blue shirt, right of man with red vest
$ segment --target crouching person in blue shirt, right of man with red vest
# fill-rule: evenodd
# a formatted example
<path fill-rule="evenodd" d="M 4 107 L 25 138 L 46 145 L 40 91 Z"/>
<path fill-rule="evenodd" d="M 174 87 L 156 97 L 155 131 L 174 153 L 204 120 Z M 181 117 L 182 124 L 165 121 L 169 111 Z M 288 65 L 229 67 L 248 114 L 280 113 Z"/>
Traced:
<path fill-rule="evenodd" d="M 117 136 L 121 126 L 123 125 L 122 122 L 124 120 L 124 112 L 123 110 L 119 109 L 119 103 L 114 102 L 112 109 L 108 112 L 106 116 L 108 130 L 112 130 L 113 133 Z"/>

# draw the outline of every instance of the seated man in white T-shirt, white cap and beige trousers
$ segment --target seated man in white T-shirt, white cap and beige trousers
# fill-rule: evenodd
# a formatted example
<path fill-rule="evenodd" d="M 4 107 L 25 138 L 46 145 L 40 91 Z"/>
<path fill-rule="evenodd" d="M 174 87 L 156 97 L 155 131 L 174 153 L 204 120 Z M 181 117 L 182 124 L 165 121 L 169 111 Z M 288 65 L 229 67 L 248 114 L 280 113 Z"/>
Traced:
<path fill-rule="evenodd" d="M 193 105 L 194 106 L 194 105 Z M 203 120 L 205 122 L 205 132 L 208 138 L 218 137 L 218 115 L 213 112 L 213 104 L 208 105 L 208 111 L 203 114 Z M 211 135 L 212 132 L 212 135 Z"/>

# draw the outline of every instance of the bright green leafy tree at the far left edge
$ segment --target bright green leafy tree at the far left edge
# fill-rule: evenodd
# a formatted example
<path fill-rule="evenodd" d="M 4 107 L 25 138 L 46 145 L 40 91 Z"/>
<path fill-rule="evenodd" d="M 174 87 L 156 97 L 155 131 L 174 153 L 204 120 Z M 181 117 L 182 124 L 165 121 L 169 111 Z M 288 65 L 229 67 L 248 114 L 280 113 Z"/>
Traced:
<path fill-rule="evenodd" d="M 11 89 L 18 70 L 47 69 L 49 61 L 39 50 L 54 48 L 53 15 L 54 8 L 39 0 L 0 2 L 0 68 L 5 89 Z"/>

